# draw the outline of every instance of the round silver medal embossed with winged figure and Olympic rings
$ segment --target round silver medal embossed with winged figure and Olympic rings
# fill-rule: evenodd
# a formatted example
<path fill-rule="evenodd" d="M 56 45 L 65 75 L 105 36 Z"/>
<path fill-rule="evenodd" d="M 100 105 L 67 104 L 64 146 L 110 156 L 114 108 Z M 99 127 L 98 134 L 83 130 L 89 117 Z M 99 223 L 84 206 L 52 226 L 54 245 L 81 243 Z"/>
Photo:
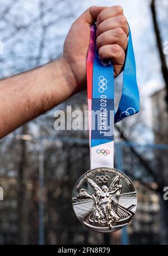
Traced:
<path fill-rule="evenodd" d="M 137 192 L 124 173 L 101 167 L 87 171 L 77 181 L 72 204 L 83 225 L 97 232 L 114 232 L 132 220 Z"/>

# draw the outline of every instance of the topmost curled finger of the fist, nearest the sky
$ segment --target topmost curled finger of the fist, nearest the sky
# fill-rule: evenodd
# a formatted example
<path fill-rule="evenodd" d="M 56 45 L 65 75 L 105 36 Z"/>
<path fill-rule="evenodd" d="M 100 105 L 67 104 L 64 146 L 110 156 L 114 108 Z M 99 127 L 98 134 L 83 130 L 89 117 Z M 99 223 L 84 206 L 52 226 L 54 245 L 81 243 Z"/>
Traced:
<path fill-rule="evenodd" d="M 105 8 L 97 16 L 96 26 L 99 26 L 101 22 L 107 20 L 108 18 L 115 17 L 118 15 L 123 15 L 123 8 L 121 6 Z"/>

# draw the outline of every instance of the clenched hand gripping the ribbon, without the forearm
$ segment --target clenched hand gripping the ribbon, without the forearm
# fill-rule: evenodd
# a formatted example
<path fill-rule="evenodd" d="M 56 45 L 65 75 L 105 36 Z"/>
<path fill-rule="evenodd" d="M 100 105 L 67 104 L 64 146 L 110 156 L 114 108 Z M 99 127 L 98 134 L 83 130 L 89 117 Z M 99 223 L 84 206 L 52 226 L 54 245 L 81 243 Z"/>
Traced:
<path fill-rule="evenodd" d="M 122 71 L 125 61 L 129 27 L 122 7 L 90 7 L 73 23 L 64 43 L 62 60 L 68 64 L 69 81 L 75 81 L 74 86 L 69 84 L 69 90 L 75 93 L 86 89 L 86 60 L 94 22 L 97 22 L 96 45 L 101 60 L 112 60 L 115 76 Z"/>

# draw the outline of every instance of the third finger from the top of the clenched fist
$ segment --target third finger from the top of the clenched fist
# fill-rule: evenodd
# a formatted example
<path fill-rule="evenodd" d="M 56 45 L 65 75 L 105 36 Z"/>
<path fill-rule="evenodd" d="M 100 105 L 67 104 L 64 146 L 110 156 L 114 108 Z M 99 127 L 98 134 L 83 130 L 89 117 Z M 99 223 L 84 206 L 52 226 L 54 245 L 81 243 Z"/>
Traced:
<path fill-rule="evenodd" d="M 123 50 L 127 49 L 128 37 L 121 27 L 106 31 L 98 36 L 96 40 L 97 50 L 99 50 L 101 46 L 108 44 L 118 44 Z"/>

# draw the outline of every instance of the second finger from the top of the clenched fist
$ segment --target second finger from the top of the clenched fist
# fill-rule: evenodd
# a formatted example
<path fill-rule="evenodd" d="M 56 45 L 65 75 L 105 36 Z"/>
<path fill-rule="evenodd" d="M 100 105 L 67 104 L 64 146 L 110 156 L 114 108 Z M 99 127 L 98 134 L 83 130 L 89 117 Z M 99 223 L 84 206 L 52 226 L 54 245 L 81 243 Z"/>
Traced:
<path fill-rule="evenodd" d="M 102 33 L 115 29 L 116 27 L 121 27 L 125 34 L 128 36 L 129 27 L 127 23 L 127 18 L 124 15 L 118 15 L 116 17 L 108 18 L 107 20 L 100 23 L 97 27 L 96 36 L 101 35 Z"/>

